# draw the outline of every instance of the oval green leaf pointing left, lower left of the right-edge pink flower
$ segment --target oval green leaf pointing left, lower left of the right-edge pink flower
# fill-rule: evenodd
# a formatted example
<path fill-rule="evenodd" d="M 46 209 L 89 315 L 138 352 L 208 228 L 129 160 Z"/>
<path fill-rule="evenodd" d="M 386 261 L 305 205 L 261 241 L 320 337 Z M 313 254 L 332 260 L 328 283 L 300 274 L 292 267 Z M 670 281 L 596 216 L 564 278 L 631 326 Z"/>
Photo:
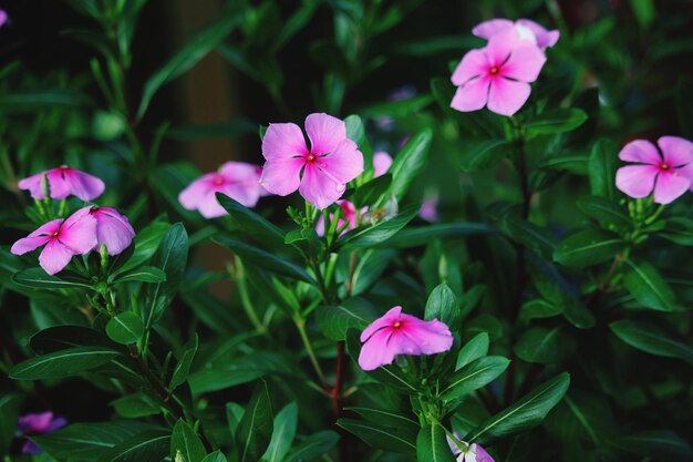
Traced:
<path fill-rule="evenodd" d="M 592 266 L 612 259 L 627 245 L 613 233 L 587 229 L 561 240 L 554 251 L 554 260 L 570 267 Z"/>

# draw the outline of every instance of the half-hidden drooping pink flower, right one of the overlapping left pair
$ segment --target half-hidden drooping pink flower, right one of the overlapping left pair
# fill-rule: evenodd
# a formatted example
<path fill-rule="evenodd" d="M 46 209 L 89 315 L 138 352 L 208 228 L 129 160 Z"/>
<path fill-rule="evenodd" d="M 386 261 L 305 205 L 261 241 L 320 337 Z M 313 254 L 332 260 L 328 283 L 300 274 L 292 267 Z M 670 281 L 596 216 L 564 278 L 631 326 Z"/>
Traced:
<path fill-rule="evenodd" d="M 125 250 L 135 237 L 135 230 L 127 217 L 121 215 L 115 208 L 86 206 L 76 211 L 72 216 L 76 219 L 84 216 L 92 216 L 96 219 L 96 249 L 105 245 L 108 255 L 117 255 Z"/>

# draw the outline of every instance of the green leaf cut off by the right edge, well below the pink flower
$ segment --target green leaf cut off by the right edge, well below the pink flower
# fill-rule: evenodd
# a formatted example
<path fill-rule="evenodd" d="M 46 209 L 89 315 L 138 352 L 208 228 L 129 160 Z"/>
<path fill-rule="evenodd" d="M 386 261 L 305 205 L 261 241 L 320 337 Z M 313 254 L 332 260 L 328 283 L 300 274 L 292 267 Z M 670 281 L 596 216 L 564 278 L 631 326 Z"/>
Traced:
<path fill-rule="evenodd" d="M 609 328 L 633 348 L 650 355 L 682 359 L 693 365 L 693 347 L 673 339 L 656 326 L 623 319 L 611 322 Z"/>

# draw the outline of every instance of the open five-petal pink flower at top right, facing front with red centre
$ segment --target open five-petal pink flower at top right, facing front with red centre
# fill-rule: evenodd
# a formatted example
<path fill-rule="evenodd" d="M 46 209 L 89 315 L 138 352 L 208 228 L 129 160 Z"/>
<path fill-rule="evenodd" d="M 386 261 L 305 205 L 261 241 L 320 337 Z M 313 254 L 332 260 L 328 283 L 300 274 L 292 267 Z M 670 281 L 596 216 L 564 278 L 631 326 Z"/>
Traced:
<path fill-rule="evenodd" d="M 451 106 L 468 112 L 488 105 L 497 114 L 513 115 L 529 97 L 529 82 L 537 80 L 545 62 L 541 50 L 519 40 L 515 31 L 493 35 L 455 69 L 452 81 L 458 89 Z"/>

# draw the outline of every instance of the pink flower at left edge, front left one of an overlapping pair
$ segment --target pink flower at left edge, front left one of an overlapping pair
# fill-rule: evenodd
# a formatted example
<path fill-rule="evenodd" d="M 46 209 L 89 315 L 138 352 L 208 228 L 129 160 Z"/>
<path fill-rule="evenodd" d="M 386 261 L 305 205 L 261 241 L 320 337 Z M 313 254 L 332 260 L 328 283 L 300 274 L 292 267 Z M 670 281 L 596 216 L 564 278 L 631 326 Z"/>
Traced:
<path fill-rule="evenodd" d="M 15 242 L 10 251 L 24 255 L 45 245 L 39 255 L 39 264 L 45 273 L 54 275 L 68 266 L 73 255 L 87 254 L 96 243 L 96 219 L 91 215 L 74 214 L 68 219 L 58 218 L 40 226 Z"/>

